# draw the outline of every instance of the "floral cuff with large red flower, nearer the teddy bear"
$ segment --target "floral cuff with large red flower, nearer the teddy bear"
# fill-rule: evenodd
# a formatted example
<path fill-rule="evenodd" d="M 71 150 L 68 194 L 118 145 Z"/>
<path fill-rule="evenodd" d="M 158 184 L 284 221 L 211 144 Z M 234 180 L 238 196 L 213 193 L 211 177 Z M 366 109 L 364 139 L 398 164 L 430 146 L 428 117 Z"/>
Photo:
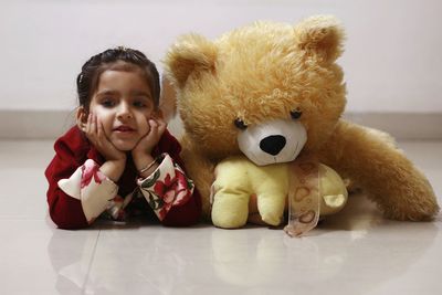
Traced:
<path fill-rule="evenodd" d="M 138 179 L 138 186 L 147 202 L 162 221 L 173 207 L 186 204 L 193 193 L 193 181 L 168 154 L 158 157 L 158 168 L 147 178 Z"/>

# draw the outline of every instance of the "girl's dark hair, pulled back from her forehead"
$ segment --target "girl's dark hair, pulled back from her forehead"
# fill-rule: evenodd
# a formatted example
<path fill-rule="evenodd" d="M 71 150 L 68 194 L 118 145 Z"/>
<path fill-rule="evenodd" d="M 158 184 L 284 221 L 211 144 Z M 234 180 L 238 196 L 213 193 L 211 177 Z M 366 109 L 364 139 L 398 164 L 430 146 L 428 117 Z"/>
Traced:
<path fill-rule="evenodd" d="M 123 62 L 122 66 L 116 66 L 118 62 Z M 134 67 L 135 66 L 135 67 Z M 118 46 L 109 49 L 92 56 L 83 66 L 82 72 L 76 77 L 76 91 L 78 94 L 78 103 L 88 109 L 91 96 L 98 86 L 99 75 L 110 69 L 124 69 L 126 71 L 138 67 L 146 76 L 147 83 L 151 91 L 155 106 L 159 104 L 159 74 L 155 64 L 146 57 L 146 55 L 137 50 Z"/>

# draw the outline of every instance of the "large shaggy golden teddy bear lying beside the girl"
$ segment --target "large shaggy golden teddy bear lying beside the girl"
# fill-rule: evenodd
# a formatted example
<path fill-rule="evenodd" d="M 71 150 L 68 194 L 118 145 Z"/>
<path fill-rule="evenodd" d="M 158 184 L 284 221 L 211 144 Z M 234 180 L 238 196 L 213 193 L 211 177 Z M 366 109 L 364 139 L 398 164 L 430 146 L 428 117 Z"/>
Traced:
<path fill-rule="evenodd" d="M 434 217 L 434 192 L 410 160 L 383 136 L 340 119 L 346 88 L 335 61 L 341 51 L 343 29 L 332 17 L 256 22 L 213 42 L 189 34 L 170 49 L 166 72 L 186 129 L 182 157 L 206 214 L 214 167 L 244 154 L 256 165 L 315 156 L 366 189 L 386 217 Z M 280 131 L 255 134 L 267 127 Z"/>

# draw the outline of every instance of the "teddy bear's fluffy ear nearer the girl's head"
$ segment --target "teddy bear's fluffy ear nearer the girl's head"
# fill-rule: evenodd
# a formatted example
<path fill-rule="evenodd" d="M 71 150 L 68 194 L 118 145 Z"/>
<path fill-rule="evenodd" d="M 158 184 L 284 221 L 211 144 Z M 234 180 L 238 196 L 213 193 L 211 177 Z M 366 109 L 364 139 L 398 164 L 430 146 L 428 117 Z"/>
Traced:
<path fill-rule="evenodd" d="M 165 65 L 168 78 L 180 88 L 194 71 L 214 69 L 217 46 L 198 34 L 183 35 L 171 46 Z"/>

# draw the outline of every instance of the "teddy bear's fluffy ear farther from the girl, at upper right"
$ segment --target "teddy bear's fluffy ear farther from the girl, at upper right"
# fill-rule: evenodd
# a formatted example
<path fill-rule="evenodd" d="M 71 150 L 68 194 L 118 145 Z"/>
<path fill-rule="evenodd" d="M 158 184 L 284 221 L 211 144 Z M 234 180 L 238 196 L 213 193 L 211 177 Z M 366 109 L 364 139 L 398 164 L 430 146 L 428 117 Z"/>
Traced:
<path fill-rule="evenodd" d="M 297 46 L 320 62 L 334 62 L 343 53 L 344 29 L 335 17 L 305 19 L 295 25 L 295 36 Z"/>

